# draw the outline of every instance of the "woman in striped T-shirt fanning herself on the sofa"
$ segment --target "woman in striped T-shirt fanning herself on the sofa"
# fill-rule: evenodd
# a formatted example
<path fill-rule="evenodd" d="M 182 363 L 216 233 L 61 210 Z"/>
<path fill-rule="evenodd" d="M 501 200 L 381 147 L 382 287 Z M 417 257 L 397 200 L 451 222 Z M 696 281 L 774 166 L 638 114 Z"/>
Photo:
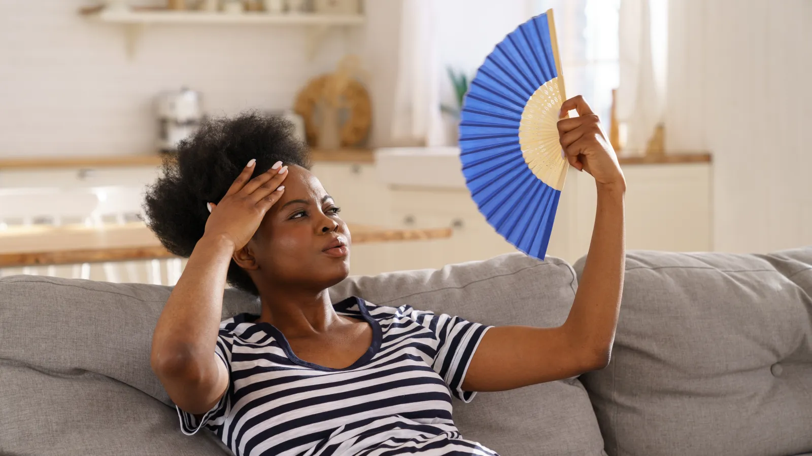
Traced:
<path fill-rule="evenodd" d="M 558 328 L 490 327 L 327 288 L 348 276 L 350 232 L 277 118 L 205 123 L 146 198 L 150 228 L 188 264 L 153 335 L 151 364 L 181 428 L 234 454 L 496 454 L 460 436 L 451 395 L 501 391 L 603 368 L 624 272 L 624 176 L 581 97 L 559 121 L 568 161 L 594 176 L 590 253 Z M 247 163 L 247 165 L 246 165 Z M 208 209 L 207 209 L 208 208 Z M 226 284 L 259 316 L 220 321 Z M 213 353 L 214 351 L 214 353 Z"/>

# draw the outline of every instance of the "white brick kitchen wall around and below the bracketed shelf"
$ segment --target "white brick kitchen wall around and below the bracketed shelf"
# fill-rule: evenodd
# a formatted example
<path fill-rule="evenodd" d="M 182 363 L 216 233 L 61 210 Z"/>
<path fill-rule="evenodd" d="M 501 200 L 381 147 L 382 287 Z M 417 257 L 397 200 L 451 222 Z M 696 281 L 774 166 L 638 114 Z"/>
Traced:
<path fill-rule="evenodd" d="M 158 92 L 188 84 L 212 114 L 286 109 L 345 52 L 374 75 L 372 142 L 386 144 L 400 0 L 369 2 L 368 25 L 331 32 L 313 61 L 303 27 L 263 25 L 152 26 L 128 60 L 122 28 L 80 17 L 88 4 L 0 2 L 0 157 L 152 153 Z"/>

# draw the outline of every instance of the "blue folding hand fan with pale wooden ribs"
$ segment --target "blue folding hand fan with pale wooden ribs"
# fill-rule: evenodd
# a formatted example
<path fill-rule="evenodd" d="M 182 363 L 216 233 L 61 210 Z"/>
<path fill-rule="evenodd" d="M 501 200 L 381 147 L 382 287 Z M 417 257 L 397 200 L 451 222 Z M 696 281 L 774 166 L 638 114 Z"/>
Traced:
<path fill-rule="evenodd" d="M 544 259 L 568 162 L 559 143 L 564 103 L 553 11 L 508 34 L 486 57 L 465 95 L 460 161 L 490 226 Z"/>

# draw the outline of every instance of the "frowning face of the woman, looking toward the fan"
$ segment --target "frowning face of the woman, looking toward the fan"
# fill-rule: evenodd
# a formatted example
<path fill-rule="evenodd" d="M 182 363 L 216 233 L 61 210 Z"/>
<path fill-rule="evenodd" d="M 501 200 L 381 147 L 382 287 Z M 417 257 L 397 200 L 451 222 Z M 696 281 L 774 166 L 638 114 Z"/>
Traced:
<path fill-rule="evenodd" d="M 248 242 L 254 265 L 248 274 L 259 290 L 291 286 L 324 290 L 341 282 L 350 269 L 350 231 L 335 201 L 309 170 L 287 169 L 285 191 L 266 213 Z M 344 247 L 330 248 L 337 244 Z"/>

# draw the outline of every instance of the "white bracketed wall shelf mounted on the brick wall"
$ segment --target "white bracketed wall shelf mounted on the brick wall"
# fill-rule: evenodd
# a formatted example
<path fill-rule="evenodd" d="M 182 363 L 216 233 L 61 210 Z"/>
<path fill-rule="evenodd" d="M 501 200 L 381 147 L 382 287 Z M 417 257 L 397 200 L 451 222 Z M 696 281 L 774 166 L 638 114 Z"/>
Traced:
<path fill-rule="evenodd" d="M 313 58 L 318 46 L 331 28 L 347 28 L 365 23 L 365 16 L 324 15 L 315 13 L 269 14 L 262 11 L 243 13 L 209 11 L 132 10 L 104 8 L 82 11 L 84 17 L 97 23 L 118 24 L 127 37 L 127 55 L 135 55 L 138 37 L 149 25 L 194 24 L 268 24 L 274 26 L 304 26 L 308 31 L 308 55 Z"/>

